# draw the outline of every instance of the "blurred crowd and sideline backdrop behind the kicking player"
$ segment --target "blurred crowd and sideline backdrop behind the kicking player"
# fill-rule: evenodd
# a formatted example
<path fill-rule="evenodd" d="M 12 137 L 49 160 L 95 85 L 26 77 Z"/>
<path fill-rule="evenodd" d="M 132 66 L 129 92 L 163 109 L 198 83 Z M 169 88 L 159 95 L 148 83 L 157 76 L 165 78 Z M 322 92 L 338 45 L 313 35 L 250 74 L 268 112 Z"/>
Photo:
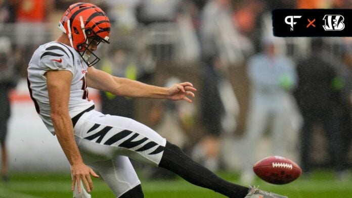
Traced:
<path fill-rule="evenodd" d="M 61 34 L 57 24 L 76 2 L 0 1 L 0 107 L 6 109 L 7 93 L 11 107 L 3 119 L 2 175 L 69 170 L 36 115 L 26 68 L 40 44 Z M 198 89 L 193 104 L 91 89 L 98 110 L 150 126 L 209 169 L 238 172 L 245 185 L 254 179 L 253 164 L 271 155 L 297 162 L 306 177 L 317 169 L 334 171 L 338 180 L 352 176 L 352 39 L 279 38 L 271 23 L 273 9 L 351 9 L 351 1 L 85 2 L 100 6 L 112 24 L 95 67 L 159 86 L 190 81 Z M 149 178 L 174 177 L 134 164 Z"/>

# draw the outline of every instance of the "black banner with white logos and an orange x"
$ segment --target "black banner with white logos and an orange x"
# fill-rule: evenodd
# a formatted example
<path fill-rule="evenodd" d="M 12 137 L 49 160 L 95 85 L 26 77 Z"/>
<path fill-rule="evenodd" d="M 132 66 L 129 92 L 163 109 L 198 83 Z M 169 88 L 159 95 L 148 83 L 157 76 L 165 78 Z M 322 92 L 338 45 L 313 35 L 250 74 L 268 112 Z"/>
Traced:
<path fill-rule="evenodd" d="M 336 16 L 342 16 L 343 21 Z M 272 20 L 274 36 L 278 37 L 352 36 L 352 9 L 276 9 L 272 11 Z"/>

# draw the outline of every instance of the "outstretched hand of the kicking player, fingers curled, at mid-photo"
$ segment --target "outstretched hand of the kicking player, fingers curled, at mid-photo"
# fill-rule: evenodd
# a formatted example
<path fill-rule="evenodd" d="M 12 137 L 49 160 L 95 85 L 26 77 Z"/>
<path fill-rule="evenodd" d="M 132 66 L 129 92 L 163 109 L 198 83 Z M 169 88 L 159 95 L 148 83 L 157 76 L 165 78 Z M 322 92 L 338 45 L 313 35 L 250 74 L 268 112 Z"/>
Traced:
<path fill-rule="evenodd" d="M 194 91 L 197 91 L 190 82 L 182 82 L 174 84 L 168 88 L 168 99 L 172 101 L 185 100 L 192 103 L 192 100 L 187 96 L 194 97 Z"/>

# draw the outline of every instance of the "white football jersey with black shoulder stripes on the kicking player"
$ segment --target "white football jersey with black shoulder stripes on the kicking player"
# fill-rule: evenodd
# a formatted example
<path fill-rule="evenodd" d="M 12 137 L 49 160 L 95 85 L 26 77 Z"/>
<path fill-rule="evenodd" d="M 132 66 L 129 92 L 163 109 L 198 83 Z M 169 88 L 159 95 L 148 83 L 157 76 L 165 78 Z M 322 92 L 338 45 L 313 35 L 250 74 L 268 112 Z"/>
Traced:
<path fill-rule="evenodd" d="M 60 42 L 40 45 L 34 52 L 27 68 L 27 81 L 35 109 L 50 132 L 55 134 L 50 118 L 50 104 L 45 73 L 51 70 L 67 70 L 73 75 L 68 104 L 70 117 L 92 107 L 88 99 L 85 75 L 88 66 L 71 46 Z"/>

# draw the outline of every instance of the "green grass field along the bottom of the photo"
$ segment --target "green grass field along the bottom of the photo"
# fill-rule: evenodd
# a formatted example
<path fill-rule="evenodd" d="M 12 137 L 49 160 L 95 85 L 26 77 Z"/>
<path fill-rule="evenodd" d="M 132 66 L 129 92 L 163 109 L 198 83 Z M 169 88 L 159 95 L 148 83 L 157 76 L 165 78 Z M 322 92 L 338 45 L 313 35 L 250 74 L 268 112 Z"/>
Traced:
<path fill-rule="evenodd" d="M 238 181 L 238 174 L 218 173 L 219 176 Z M 9 182 L 0 182 L 1 198 L 72 197 L 69 174 L 13 174 Z M 157 198 L 216 198 L 224 197 L 183 179 L 146 180 L 141 179 L 145 197 Z M 352 197 L 352 179 L 337 181 L 329 171 L 315 172 L 309 179 L 299 178 L 286 185 L 272 185 L 257 179 L 254 182 L 261 189 L 287 195 L 289 198 L 340 198 Z M 94 178 L 92 197 L 114 197 L 109 187 Z"/>

